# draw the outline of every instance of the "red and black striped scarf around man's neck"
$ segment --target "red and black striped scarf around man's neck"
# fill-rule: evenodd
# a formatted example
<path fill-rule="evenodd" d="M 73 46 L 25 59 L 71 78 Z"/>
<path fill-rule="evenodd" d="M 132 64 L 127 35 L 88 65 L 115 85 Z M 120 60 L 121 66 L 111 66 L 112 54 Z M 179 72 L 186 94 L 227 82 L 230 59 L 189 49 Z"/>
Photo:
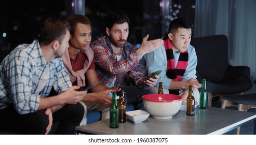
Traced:
<path fill-rule="evenodd" d="M 164 39 L 164 47 L 166 51 L 167 56 L 167 72 L 166 75 L 168 78 L 179 81 L 186 70 L 187 63 L 188 63 L 188 52 L 187 50 L 185 52 L 180 53 L 180 57 L 177 63 L 177 66 L 175 67 L 174 57 L 173 57 L 173 51 L 172 51 L 172 45 L 169 38 L 166 40 Z M 170 94 L 177 94 L 179 95 L 179 90 L 169 90 Z"/>

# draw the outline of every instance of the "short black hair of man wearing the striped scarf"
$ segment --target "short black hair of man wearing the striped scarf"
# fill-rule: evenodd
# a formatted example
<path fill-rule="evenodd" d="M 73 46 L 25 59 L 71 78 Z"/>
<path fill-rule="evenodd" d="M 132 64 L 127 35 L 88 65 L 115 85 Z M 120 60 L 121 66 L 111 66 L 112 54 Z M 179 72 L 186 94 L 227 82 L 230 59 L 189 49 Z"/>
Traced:
<path fill-rule="evenodd" d="M 177 18 L 170 22 L 168 33 L 176 33 L 178 28 L 191 28 L 191 31 L 193 31 L 194 26 L 186 18 Z"/>

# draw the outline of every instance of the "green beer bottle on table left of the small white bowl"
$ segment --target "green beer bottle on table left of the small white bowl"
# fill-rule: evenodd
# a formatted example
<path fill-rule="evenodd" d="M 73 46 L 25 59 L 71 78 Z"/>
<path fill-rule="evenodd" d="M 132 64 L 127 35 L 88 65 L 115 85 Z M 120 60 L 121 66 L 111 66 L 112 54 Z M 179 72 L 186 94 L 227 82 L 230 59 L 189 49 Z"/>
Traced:
<path fill-rule="evenodd" d="M 110 128 L 118 128 L 118 113 L 119 109 L 117 107 L 116 92 L 113 92 L 112 104 L 110 107 Z"/>

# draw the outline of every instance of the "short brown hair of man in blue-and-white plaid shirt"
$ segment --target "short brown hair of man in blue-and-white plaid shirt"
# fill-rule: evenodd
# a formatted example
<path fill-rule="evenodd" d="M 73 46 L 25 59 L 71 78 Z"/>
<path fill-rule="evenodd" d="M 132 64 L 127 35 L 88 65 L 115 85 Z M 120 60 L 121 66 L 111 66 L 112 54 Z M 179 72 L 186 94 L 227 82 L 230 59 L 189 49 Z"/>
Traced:
<path fill-rule="evenodd" d="M 40 44 L 49 45 L 52 41 L 58 40 L 61 44 L 66 30 L 70 30 L 69 22 L 52 17 L 48 18 L 39 32 L 38 41 Z"/>

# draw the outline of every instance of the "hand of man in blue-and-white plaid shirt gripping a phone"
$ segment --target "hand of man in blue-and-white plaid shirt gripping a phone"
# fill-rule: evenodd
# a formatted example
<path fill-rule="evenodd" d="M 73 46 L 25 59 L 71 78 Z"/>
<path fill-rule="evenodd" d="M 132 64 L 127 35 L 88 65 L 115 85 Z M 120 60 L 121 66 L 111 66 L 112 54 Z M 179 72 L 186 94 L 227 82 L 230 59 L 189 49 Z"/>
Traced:
<path fill-rule="evenodd" d="M 61 93 L 60 97 L 64 100 L 62 104 L 76 104 L 79 100 L 82 100 L 83 97 L 87 94 L 87 91 L 75 91 L 79 89 L 79 86 L 72 86 L 65 92 Z"/>

